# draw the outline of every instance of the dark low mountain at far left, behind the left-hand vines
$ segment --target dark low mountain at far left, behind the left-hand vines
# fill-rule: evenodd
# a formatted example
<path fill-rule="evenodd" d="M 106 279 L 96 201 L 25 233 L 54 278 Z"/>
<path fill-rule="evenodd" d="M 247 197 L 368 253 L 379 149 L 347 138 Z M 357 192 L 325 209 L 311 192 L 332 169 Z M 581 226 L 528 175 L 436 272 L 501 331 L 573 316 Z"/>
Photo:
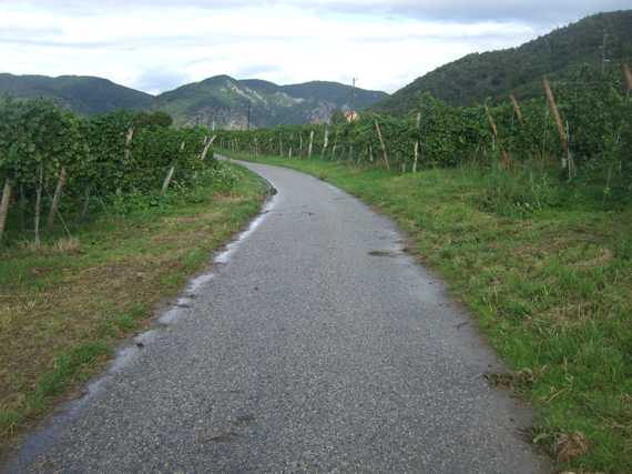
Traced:
<path fill-rule="evenodd" d="M 78 113 L 93 114 L 118 109 L 144 110 L 154 97 L 115 84 L 101 78 L 85 75 L 12 75 L 0 73 L 0 93 L 18 98 L 45 97 Z"/>

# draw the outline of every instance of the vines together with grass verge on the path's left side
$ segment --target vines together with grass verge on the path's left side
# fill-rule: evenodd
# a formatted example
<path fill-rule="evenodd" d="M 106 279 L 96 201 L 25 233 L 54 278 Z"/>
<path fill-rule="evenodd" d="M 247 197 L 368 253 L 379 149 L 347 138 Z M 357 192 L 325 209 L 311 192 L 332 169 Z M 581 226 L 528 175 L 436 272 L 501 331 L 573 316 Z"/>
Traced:
<path fill-rule="evenodd" d="M 0 457 L 105 366 L 266 186 L 164 113 L 0 99 Z"/>

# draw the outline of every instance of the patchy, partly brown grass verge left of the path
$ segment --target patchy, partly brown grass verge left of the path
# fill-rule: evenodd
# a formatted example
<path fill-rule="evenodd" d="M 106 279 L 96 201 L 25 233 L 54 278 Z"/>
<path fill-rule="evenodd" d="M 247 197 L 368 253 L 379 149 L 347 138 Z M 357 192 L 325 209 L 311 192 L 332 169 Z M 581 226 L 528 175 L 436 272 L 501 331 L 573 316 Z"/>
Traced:
<path fill-rule="evenodd" d="M 231 168 L 238 179 L 228 190 L 101 215 L 39 251 L 0 249 L 0 454 L 75 395 L 120 340 L 146 326 L 259 212 L 265 183 Z"/>

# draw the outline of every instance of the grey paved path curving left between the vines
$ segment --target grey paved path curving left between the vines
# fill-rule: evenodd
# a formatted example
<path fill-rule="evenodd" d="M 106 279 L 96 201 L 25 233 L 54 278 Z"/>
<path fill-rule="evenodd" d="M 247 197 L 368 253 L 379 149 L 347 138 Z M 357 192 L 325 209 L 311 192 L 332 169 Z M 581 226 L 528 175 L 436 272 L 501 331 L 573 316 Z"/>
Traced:
<path fill-rule="evenodd" d="M 279 193 L 8 472 L 534 473 L 524 410 L 394 224 L 314 178 Z"/>

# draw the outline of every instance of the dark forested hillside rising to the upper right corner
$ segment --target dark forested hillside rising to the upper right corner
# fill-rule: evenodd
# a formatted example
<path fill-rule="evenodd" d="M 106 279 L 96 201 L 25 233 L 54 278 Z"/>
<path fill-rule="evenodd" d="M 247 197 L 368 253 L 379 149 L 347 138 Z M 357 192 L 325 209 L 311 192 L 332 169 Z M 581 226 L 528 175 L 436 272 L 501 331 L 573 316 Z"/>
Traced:
<path fill-rule="evenodd" d="M 544 74 L 559 79 L 582 63 L 600 65 L 604 34 L 606 64 L 632 62 L 632 10 L 599 13 L 519 48 L 468 54 L 418 78 L 374 109 L 406 113 L 424 92 L 453 105 L 507 98 L 511 91 L 522 98 L 541 94 Z"/>

